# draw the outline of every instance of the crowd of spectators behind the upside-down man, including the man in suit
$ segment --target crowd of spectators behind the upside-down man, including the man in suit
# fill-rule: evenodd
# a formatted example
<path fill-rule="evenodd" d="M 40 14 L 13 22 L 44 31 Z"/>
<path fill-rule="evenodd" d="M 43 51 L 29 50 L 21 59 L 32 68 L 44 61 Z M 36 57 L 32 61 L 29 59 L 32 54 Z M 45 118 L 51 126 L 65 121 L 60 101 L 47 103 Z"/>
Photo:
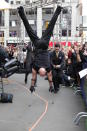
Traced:
<path fill-rule="evenodd" d="M 25 83 L 27 83 L 28 74 L 32 72 L 34 63 L 34 47 L 29 43 L 22 47 L 22 51 L 18 47 L 5 47 L 5 50 L 9 59 L 16 58 L 20 67 L 25 69 Z M 80 86 L 79 71 L 87 68 L 87 43 L 72 44 L 66 48 L 56 42 L 54 47 L 48 48 L 48 53 L 53 83 L 52 90 L 49 88 L 49 91 L 57 93 L 60 84 L 70 86 L 74 82 L 75 86 Z M 48 80 L 48 76 L 46 78 Z"/>

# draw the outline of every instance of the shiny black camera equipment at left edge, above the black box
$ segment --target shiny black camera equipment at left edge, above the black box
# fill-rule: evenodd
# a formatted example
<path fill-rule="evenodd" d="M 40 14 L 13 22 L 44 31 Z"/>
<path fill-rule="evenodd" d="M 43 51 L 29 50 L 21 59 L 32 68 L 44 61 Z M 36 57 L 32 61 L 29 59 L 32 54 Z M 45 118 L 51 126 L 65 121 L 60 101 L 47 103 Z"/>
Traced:
<path fill-rule="evenodd" d="M 8 53 L 0 46 L 0 77 L 6 78 L 14 74 L 19 68 L 17 59 L 9 60 Z"/>

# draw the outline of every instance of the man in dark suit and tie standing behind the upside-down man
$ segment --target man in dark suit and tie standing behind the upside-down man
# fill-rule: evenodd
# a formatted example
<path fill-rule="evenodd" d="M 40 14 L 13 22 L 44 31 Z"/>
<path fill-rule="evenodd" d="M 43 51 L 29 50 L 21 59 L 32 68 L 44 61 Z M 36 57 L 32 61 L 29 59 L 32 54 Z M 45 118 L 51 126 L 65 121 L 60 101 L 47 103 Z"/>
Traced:
<path fill-rule="evenodd" d="M 59 84 L 62 82 L 64 63 L 65 63 L 64 53 L 60 49 L 60 44 L 56 43 L 55 49 L 51 55 L 53 85 L 55 93 L 58 92 Z"/>

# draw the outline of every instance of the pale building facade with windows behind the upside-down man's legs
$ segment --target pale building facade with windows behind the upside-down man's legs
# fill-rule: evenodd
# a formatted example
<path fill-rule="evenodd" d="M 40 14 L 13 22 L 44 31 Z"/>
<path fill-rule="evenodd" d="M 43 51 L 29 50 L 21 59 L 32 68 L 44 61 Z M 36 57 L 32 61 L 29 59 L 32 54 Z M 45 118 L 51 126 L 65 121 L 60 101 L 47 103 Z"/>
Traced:
<path fill-rule="evenodd" d="M 0 20 L 0 42 L 5 46 L 7 44 L 17 45 L 30 41 L 18 15 L 17 7 L 20 5 L 24 6 L 29 23 L 35 33 L 41 37 L 57 6 L 56 3 L 49 0 L 39 1 L 39 3 L 35 2 L 35 0 L 7 0 L 7 2 L 11 4 L 12 9 L 1 11 Z M 59 5 L 65 7 L 66 10 L 61 13 L 56 22 L 51 41 L 81 41 L 79 30 L 76 28 L 80 24 L 81 17 L 80 10 L 77 7 L 79 1 L 59 0 L 57 2 Z"/>

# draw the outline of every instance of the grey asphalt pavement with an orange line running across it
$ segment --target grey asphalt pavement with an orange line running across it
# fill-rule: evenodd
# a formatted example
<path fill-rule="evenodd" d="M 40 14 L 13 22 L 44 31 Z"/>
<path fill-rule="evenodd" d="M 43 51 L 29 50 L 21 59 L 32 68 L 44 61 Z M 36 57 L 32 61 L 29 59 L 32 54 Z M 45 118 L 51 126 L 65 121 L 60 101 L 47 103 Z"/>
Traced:
<path fill-rule="evenodd" d="M 85 111 L 80 95 L 70 87 L 60 87 L 57 94 L 48 91 L 47 80 L 38 76 L 35 93 L 24 84 L 24 74 L 4 80 L 4 90 L 13 94 L 13 103 L 0 103 L 0 131 L 87 131 L 85 119 L 75 125 L 78 112 Z"/>

